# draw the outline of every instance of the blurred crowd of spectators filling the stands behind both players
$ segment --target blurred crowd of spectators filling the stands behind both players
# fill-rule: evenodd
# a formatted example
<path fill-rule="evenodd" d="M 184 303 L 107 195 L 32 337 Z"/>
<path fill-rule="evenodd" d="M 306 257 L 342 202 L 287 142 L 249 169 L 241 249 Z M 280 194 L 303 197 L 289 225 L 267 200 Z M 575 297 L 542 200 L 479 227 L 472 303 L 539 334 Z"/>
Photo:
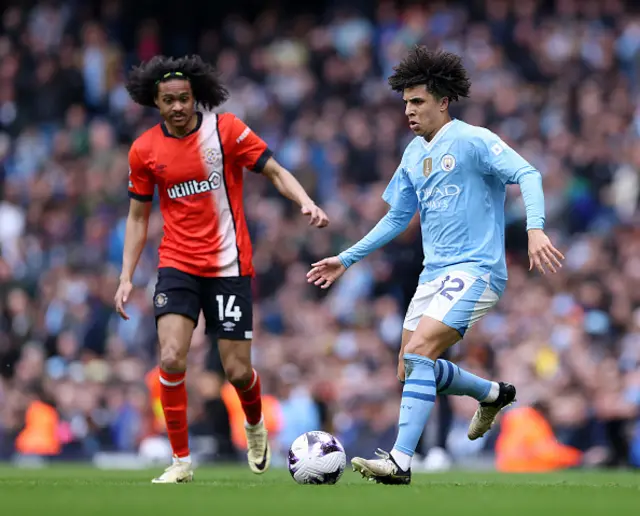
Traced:
<path fill-rule="evenodd" d="M 566 255 L 558 275 L 528 271 L 523 204 L 511 188 L 507 291 L 449 358 L 515 383 L 519 404 L 590 463 L 640 466 L 640 16 L 631 2 L 381 1 L 369 16 L 265 7 L 216 29 L 202 20 L 193 41 L 171 38 L 152 12 L 124 38 L 129 6 L 94 4 L 20 2 L 0 20 L 0 458 L 29 453 L 30 425 L 52 425 L 64 458 L 136 452 L 162 435 L 145 381 L 156 359 L 157 207 L 131 320 L 117 318 L 112 298 L 128 147 L 158 122 L 131 103 L 126 73 L 183 52 L 217 63 L 231 91 L 222 110 L 262 136 L 331 218 L 328 229 L 309 229 L 268 181 L 247 177 L 255 365 L 275 446 L 322 428 L 350 454 L 389 449 L 419 225 L 328 292 L 305 273 L 385 213 L 380 195 L 411 138 L 386 77 L 420 43 L 464 56 L 472 94 L 453 114 L 497 132 L 540 170 L 548 232 Z M 190 417 L 194 439 L 215 437 L 204 446 L 213 457 L 237 446 L 216 353 L 199 327 Z M 454 461 L 491 453 L 496 433 L 466 438 L 475 407 L 441 399 L 421 451 L 444 448 Z"/>

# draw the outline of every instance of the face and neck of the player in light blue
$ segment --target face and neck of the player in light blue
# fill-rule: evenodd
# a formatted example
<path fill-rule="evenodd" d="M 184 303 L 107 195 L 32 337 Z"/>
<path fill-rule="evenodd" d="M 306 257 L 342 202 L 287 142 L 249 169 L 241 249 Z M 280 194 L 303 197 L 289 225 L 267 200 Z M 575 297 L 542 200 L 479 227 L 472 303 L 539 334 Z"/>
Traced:
<path fill-rule="evenodd" d="M 418 136 L 431 140 L 448 118 L 449 99 L 437 99 L 419 84 L 405 88 L 402 99 L 405 103 L 404 113 L 409 120 L 409 128 Z"/>

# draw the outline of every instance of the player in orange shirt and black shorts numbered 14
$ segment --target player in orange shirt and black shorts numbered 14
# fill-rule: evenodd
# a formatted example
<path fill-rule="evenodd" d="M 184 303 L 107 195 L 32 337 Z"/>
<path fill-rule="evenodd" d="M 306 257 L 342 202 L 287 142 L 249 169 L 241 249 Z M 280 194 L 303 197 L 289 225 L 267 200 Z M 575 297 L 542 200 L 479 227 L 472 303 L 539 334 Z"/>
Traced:
<path fill-rule="evenodd" d="M 116 310 L 124 305 L 145 245 L 154 189 L 164 237 L 159 248 L 154 308 L 160 343 L 161 401 L 174 461 L 154 483 L 193 479 L 185 371 L 191 336 L 202 310 L 207 332 L 219 337 L 221 360 L 246 416 L 249 467 L 264 473 L 271 451 L 262 418 L 260 377 L 251 365 L 252 249 L 243 210 L 245 168 L 267 176 L 297 203 L 310 224 L 327 215 L 273 158 L 267 144 L 233 114 L 212 110 L 228 97 L 213 66 L 199 56 L 157 56 L 131 72 L 127 90 L 163 122 L 129 151 L 129 197 Z"/>

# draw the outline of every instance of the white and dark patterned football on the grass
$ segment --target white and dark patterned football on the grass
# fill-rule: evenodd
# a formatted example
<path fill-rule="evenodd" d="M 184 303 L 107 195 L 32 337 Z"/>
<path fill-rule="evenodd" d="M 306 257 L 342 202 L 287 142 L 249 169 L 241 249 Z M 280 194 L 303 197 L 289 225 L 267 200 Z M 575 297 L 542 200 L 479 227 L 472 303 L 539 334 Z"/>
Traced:
<path fill-rule="evenodd" d="M 335 484 L 346 463 L 342 444 L 327 432 L 302 434 L 289 449 L 289 473 L 298 484 Z"/>

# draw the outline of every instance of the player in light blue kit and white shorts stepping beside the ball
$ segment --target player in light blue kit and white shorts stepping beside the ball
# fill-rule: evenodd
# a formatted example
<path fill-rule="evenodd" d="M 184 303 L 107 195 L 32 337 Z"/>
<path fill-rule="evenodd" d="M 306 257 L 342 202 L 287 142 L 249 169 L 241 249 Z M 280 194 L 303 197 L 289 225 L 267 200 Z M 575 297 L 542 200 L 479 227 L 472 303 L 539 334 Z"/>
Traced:
<path fill-rule="evenodd" d="M 383 194 L 390 210 L 353 247 L 313 264 L 307 277 L 328 288 L 352 264 L 402 233 L 419 211 L 424 271 L 404 321 L 398 437 L 391 453 L 379 450 L 377 459 L 352 460 L 354 470 L 369 479 L 409 484 L 411 459 L 437 393 L 478 400 L 470 439 L 483 436 L 515 400 L 513 385 L 479 378 L 439 358 L 505 289 L 506 185 L 520 185 L 524 198 L 530 270 L 556 272 L 564 257 L 543 231 L 540 173 L 488 129 L 451 119 L 449 103 L 467 97 L 471 86 L 460 57 L 416 47 L 394 72 L 389 84 L 403 94 L 416 137 Z"/>

